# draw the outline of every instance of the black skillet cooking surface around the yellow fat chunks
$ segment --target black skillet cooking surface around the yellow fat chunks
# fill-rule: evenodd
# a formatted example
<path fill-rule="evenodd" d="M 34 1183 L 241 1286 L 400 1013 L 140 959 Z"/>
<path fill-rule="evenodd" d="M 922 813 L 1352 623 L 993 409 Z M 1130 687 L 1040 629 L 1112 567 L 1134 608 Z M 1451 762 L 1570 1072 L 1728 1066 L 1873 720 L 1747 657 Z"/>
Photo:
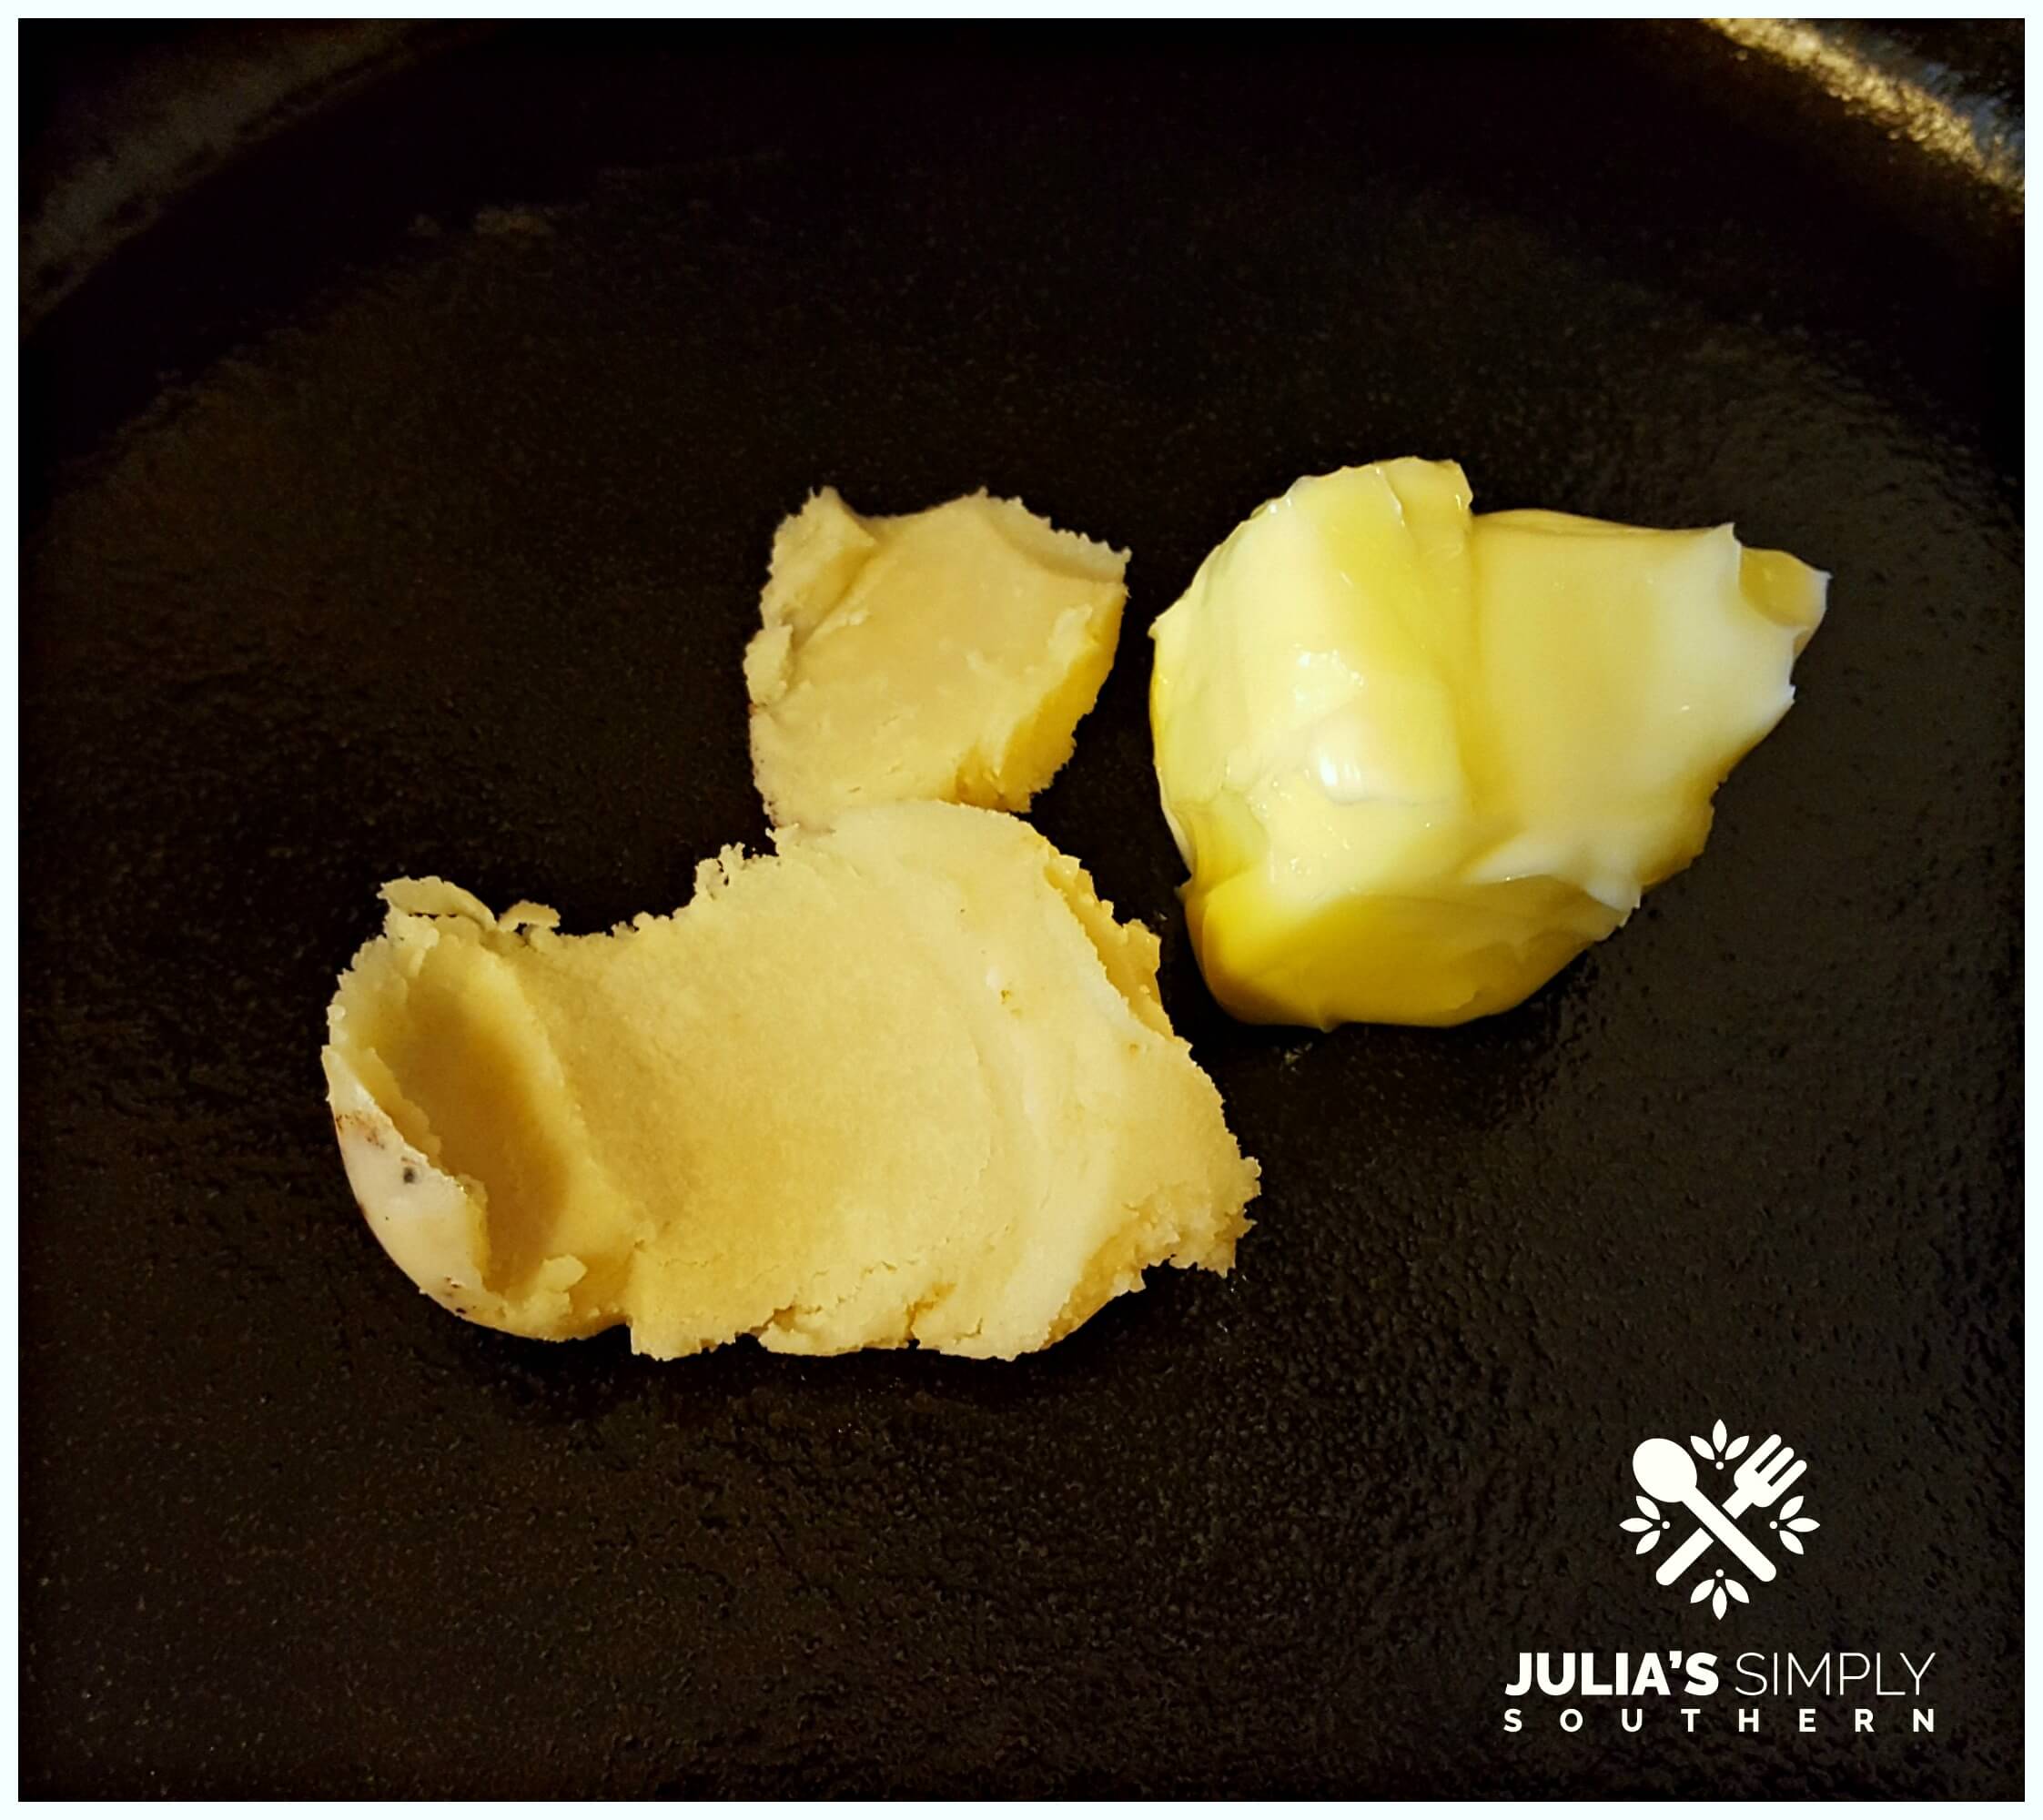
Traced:
<path fill-rule="evenodd" d="M 27 1789 L 2018 1789 L 2012 204 L 1700 31 L 1048 45 L 452 43 L 27 343 Z M 1735 517 L 1831 619 L 1530 1005 L 1240 1027 L 1142 629 L 1406 451 Z M 1240 1271 L 1003 1367 L 449 1320 L 351 1211 L 333 974 L 396 872 L 597 927 L 760 837 L 738 660 L 825 480 L 1134 547 L 1038 821 L 1167 929 Z M 1618 1528 L 1716 1418 L 1822 1522 L 1722 1620 Z M 1510 1702 L 1540 1648 L 1722 1689 L 1628 1734 Z M 1802 1734 L 1747 1650 L 1935 1663 Z"/>

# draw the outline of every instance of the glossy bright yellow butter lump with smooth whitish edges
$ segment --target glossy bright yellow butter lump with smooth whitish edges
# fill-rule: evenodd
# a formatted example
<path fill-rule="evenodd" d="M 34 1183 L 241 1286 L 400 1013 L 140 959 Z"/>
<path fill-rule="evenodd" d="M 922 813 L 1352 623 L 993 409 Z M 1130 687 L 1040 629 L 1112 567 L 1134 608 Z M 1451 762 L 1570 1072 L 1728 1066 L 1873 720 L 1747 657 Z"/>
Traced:
<path fill-rule="evenodd" d="M 1794 701 L 1818 570 L 1469 500 L 1453 462 L 1299 480 L 1152 629 L 1185 911 L 1236 1017 L 1516 1005 L 1702 852 Z"/>

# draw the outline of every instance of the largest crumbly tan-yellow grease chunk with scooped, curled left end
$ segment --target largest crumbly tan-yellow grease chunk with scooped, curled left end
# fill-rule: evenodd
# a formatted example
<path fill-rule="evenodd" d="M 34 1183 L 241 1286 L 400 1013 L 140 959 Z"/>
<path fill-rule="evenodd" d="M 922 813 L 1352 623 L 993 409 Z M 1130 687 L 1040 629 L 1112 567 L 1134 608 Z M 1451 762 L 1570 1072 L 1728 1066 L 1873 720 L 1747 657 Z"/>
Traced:
<path fill-rule="evenodd" d="M 609 936 L 386 887 L 325 1064 L 355 1197 L 427 1295 L 662 1358 L 1005 1358 L 1148 1264 L 1228 1271 L 1256 1166 L 1156 940 L 1075 860 L 940 803 L 776 840 Z"/>

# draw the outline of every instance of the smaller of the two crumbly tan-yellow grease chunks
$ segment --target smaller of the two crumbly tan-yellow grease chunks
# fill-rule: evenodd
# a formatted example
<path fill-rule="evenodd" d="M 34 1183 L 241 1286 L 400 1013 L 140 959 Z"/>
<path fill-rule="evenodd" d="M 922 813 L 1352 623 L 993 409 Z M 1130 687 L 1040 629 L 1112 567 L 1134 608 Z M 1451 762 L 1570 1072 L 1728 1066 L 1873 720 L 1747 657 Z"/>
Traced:
<path fill-rule="evenodd" d="M 1128 554 L 1019 500 L 862 519 L 823 488 L 774 535 L 746 650 L 774 823 L 868 803 L 1028 809 L 1113 664 Z"/>

